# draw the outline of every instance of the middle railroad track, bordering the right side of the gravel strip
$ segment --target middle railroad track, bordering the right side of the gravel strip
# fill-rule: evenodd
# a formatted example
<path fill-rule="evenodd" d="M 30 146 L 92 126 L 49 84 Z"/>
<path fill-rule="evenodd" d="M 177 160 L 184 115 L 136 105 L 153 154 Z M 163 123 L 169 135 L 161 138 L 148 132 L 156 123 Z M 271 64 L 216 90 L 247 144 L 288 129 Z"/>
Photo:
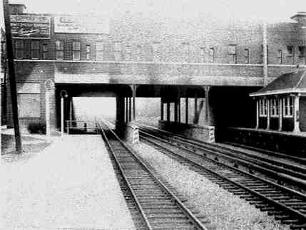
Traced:
<path fill-rule="evenodd" d="M 153 145 L 157 150 L 175 158 L 190 169 L 207 177 L 220 187 L 247 200 L 275 219 L 289 224 L 291 229 L 306 229 L 306 196 L 280 184 L 243 172 L 235 167 L 205 157 L 165 140 L 141 132 L 141 140 Z"/>

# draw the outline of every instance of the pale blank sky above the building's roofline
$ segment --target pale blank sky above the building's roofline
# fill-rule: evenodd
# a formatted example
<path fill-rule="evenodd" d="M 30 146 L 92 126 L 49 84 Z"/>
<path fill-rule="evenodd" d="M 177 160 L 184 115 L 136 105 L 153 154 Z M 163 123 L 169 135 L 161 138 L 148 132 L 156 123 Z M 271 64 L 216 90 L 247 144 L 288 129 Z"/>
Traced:
<path fill-rule="evenodd" d="M 148 17 L 192 19 L 213 16 L 222 21 L 290 21 L 306 11 L 306 0 L 11 0 L 27 12 L 100 14 L 112 18 L 126 11 Z M 1 1 L 1 9 L 2 1 Z M 0 11 L 3 24 L 3 10 Z"/>

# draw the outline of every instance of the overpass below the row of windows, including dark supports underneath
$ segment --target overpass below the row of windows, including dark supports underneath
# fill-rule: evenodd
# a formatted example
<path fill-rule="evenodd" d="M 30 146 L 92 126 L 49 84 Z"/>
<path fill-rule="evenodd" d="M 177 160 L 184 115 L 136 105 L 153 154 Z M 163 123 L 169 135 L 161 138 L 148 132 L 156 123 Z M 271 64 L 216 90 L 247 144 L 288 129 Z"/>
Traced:
<path fill-rule="evenodd" d="M 135 119 L 135 98 L 142 97 L 161 98 L 160 119 L 165 122 L 171 122 L 170 113 L 174 113 L 174 123 L 188 123 L 188 120 L 190 123 L 188 116 L 198 116 L 192 121 L 195 125 L 202 118 L 208 126 L 252 127 L 255 104 L 248 94 L 262 87 L 265 80 L 270 82 L 297 68 L 294 65 L 133 61 L 16 60 L 15 63 L 19 84 L 53 82 L 54 88 L 49 93 L 49 110 L 53 112 L 49 122 L 55 130 L 63 122 L 61 113 L 64 120 L 71 116 L 68 104 L 73 97 L 103 92 L 116 97 L 119 125 Z M 264 68 L 267 68 L 266 79 Z M 68 98 L 63 98 L 67 105 L 63 107 L 60 105 L 62 90 L 68 93 Z M 181 103 L 185 104 L 184 108 Z"/>

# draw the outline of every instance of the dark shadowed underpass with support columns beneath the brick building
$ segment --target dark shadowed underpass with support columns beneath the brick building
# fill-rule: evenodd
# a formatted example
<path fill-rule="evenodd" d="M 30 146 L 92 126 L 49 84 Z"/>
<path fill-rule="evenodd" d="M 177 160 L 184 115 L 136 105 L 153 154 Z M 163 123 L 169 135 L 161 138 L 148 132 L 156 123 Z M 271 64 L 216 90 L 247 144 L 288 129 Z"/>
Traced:
<path fill-rule="evenodd" d="M 184 133 L 208 127 L 208 130 L 213 128 L 218 138 L 223 128 L 229 126 L 255 126 L 255 103 L 248 94 L 257 89 L 250 86 L 56 84 L 57 127 L 63 132 L 63 120 L 75 119 L 72 103 L 75 97 L 116 98 L 119 132 L 129 122 L 137 120 L 136 98 L 160 98 L 159 108 L 153 108 L 159 110 L 160 127 Z M 66 95 L 62 95 L 63 90 Z M 198 137 L 197 133 L 193 137 Z M 206 137 L 200 135 L 199 138 Z"/>

